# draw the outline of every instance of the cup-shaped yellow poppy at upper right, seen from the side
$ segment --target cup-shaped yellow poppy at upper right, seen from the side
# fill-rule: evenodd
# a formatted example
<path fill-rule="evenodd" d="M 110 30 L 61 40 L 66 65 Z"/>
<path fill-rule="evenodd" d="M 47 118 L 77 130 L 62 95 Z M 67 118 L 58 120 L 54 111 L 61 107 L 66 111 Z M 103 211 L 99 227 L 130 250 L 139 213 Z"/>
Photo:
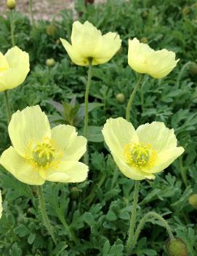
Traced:
<path fill-rule="evenodd" d="M 166 77 L 178 61 L 172 51 L 153 50 L 148 44 L 140 43 L 137 38 L 129 40 L 128 63 L 138 73 L 149 74 L 154 78 Z"/>

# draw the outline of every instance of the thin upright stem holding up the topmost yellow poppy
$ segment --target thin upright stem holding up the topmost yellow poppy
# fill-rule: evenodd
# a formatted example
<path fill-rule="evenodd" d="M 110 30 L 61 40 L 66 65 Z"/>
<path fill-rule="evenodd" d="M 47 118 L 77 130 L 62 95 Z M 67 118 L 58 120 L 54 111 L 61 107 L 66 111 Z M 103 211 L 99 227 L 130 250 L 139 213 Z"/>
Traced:
<path fill-rule="evenodd" d="M 87 138 L 87 129 L 88 129 L 88 97 L 89 97 L 89 88 L 92 79 L 92 58 L 89 58 L 89 69 L 88 69 L 88 77 L 87 77 L 87 87 L 85 93 L 85 118 L 84 118 L 84 136 Z M 87 152 L 84 155 L 84 163 L 89 163 L 89 155 L 88 148 Z"/>

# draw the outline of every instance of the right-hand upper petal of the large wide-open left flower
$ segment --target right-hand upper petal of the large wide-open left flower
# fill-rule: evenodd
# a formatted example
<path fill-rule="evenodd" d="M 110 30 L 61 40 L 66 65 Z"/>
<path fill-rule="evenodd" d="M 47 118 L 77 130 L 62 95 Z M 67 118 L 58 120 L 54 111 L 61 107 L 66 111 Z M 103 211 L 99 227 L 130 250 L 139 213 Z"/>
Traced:
<path fill-rule="evenodd" d="M 52 140 L 57 144 L 57 149 L 63 152 L 62 160 L 77 161 L 87 151 L 87 139 L 77 136 L 76 128 L 71 125 L 52 128 Z"/>

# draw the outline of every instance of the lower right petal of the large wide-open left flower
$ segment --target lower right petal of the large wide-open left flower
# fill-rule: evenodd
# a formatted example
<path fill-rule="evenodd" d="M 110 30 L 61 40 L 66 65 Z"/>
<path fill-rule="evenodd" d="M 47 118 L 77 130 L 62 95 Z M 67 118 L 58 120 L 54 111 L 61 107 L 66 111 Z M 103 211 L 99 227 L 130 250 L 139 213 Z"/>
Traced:
<path fill-rule="evenodd" d="M 88 166 L 77 161 L 61 161 L 56 169 L 40 170 L 41 176 L 50 182 L 84 182 Z"/>

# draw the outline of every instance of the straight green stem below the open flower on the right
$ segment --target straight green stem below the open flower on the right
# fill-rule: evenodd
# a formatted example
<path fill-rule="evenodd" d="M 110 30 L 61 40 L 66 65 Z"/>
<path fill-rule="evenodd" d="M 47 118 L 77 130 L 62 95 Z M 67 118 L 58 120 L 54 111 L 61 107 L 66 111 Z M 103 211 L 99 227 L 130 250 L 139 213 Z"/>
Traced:
<path fill-rule="evenodd" d="M 130 219 L 130 224 L 129 224 L 129 237 L 126 242 L 126 251 L 129 252 L 130 248 L 132 247 L 132 243 L 134 241 L 134 228 L 135 228 L 135 223 L 136 223 L 136 212 L 137 212 L 137 201 L 138 201 L 138 196 L 139 196 L 139 187 L 140 187 L 140 182 L 137 180 L 134 183 L 134 201 L 132 205 L 132 215 Z"/>

